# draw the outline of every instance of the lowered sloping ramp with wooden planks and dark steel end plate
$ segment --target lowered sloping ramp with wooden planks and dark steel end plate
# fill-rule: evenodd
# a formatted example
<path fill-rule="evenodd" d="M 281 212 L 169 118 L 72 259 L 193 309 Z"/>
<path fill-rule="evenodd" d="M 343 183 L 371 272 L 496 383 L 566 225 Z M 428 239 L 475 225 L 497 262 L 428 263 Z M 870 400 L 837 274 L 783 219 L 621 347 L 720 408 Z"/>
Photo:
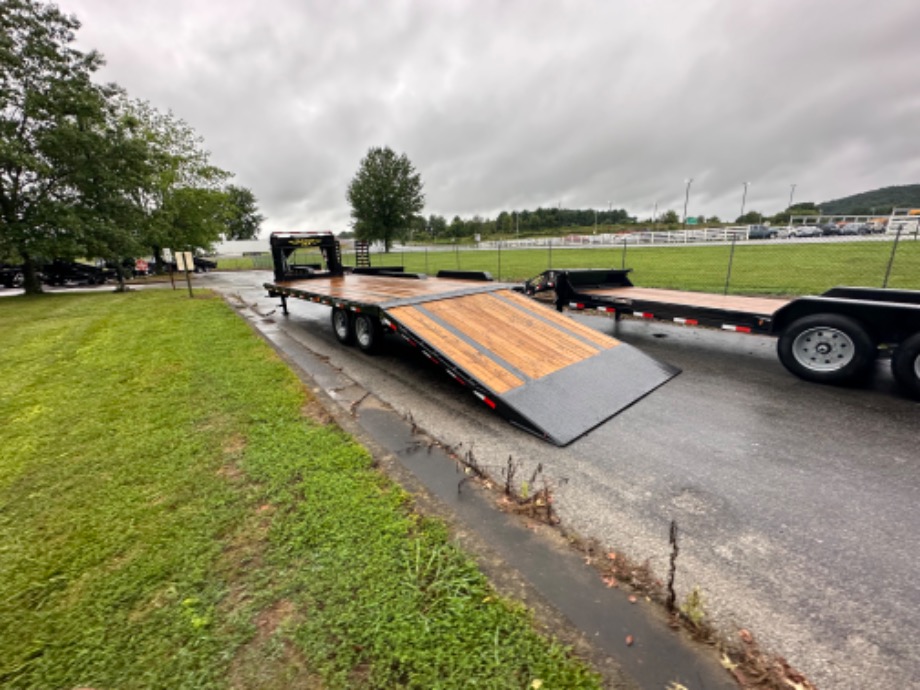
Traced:
<path fill-rule="evenodd" d="M 679 373 L 509 289 L 381 306 L 391 330 L 512 423 L 560 446 Z"/>

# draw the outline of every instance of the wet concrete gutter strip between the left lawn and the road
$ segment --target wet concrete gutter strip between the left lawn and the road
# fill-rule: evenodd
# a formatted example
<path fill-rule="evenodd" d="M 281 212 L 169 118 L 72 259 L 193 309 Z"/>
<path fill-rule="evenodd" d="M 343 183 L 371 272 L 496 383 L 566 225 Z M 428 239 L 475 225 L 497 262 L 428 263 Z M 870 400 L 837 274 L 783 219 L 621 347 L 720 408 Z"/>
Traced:
<path fill-rule="evenodd" d="M 244 315 L 306 375 L 308 386 L 321 390 L 323 397 L 353 416 L 364 433 L 446 506 L 462 529 L 499 554 L 505 567 L 517 571 L 545 603 L 580 631 L 595 652 L 592 656 L 612 660 L 622 672 L 613 679 L 617 687 L 737 689 L 710 648 L 671 629 L 656 605 L 644 599 L 631 603 L 627 592 L 608 588 L 573 549 L 553 543 L 517 516 L 499 510 L 493 494 L 462 483 L 465 475 L 444 448 L 421 442 L 409 422 L 288 335 L 283 322 Z"/>

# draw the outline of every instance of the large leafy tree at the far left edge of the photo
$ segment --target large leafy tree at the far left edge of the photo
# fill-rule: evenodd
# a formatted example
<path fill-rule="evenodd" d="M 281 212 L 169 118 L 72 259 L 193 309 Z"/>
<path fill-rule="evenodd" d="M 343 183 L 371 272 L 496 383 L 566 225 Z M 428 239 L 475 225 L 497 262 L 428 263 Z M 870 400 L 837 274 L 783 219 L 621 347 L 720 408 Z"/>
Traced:
<path fill-rule="evenodd" d="M 0 253 L 22 262 L 29 292 L 43 258 L 75 255 L 95 229 L 81 211 L 111 151 L 115 87 L 92 82 L 102 58 L 71 46 L 79 26 L 54 5 L 0 0 Z"/>

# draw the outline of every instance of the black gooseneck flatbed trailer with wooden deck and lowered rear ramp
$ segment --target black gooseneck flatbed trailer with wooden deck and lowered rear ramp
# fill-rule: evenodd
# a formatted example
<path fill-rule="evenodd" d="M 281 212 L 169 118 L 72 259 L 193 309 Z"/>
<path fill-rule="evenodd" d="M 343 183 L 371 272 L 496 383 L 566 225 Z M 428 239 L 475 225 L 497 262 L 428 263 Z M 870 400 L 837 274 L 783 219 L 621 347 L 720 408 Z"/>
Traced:
<path fill-rule="evenodd" d="M 487 273 L 347 267 L 331 233 L 275 233 L 271 247 L 275 279 L 265 288 L 284 313 L 291 298 L 329 306 L 336 338 L 367 353 L 384 334 L 399 336 L 497 414 L 557 445 L 678 373 Z M 298 249 L 322 260 L 298 264 Z"/>

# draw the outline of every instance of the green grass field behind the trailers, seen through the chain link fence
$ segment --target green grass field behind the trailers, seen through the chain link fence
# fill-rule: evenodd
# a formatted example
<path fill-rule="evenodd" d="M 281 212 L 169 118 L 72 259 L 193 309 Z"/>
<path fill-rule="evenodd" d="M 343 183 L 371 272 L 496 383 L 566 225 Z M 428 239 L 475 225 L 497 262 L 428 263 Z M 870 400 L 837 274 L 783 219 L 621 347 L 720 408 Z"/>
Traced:
<path fill-rule="evenodd" d="M 520 282 L 547 268 L 631 268 L 645 287 L 730 293 L 808 295 L 835 285 L 881 287 L 891 258 L 891 242 L 744 244 L 731 256 L 729 245 L 593 247 L 459 251 L 393 251 L 372 256 L 372 264 L 404 265 L 409 272 L 489 271 L 496 280 Z M 729 279 L 729 259 L 732 259 Z M 318 261 L 318 255 L 303 261 Z M 345 252 L 346 264 L 354 256 Z M 221 259 L 221 269 L 270 268 L 267 257 Z M 920 290 L 920 242 L 902 240 L 889 287 Z"/>

